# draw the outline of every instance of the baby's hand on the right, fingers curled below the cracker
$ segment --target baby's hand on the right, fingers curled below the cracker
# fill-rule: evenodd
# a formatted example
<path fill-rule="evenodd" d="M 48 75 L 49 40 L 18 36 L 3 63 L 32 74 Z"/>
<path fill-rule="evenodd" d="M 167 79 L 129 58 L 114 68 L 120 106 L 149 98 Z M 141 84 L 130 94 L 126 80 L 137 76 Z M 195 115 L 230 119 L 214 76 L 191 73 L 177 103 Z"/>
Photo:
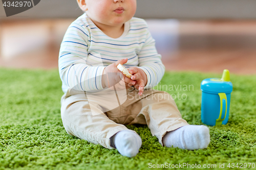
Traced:
<path fill-rule="evenodd" d="M 139 95 L 142 95 L 144 87 L 147 84 L 147 77 L 145 72 L 138 67 L 130 67 L 129 72 L 133 75 L 131 79 L 136 80 L 134 87 L 139 90 Z"/>

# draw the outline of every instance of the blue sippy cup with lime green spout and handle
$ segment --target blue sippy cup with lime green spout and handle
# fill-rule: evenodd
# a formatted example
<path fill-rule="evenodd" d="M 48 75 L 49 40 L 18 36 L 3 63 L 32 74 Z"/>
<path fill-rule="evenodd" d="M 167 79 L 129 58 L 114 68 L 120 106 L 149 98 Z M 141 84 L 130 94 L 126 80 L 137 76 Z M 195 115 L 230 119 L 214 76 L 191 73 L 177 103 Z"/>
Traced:
<path fill-rule="evenodd" d="M 233 90 L 229 71 L 224 69 L 222 78 L 204 79 L 201 83 L 201 119 L 206 125 L 226 125 L 228 122 L 230 94 Z"/>

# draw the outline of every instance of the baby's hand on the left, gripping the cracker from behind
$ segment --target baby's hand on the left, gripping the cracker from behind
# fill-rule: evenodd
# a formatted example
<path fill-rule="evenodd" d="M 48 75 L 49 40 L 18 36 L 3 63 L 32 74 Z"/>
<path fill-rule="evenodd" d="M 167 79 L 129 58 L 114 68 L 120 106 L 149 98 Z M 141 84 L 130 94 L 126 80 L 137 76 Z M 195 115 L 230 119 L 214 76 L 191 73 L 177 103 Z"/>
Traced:
<path fill-rule="evenodd" d="M 121 90 L 125 88 L 128 89 L 129 87 L 136 84 L 136 81 L 127 78 L 122 74 L 121 71 L 117 69 L 118 64 L 124 64 L 127 61 L 127 58 L 118 60 L 117 62 L 112 63 L 104 68 L 102 75 L 103 88 L 108 87 L 112 89 L 112 86 L 115 85 L 116 90 Z"/>

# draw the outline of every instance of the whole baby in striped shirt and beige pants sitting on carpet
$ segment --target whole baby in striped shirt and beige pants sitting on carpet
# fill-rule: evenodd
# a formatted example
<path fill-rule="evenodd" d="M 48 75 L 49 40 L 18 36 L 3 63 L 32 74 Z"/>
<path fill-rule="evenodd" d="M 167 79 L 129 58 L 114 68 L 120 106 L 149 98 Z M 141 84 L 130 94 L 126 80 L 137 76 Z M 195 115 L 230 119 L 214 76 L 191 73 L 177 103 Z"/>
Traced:
<path fill-rule="evenodd" d="M 136 0 L 77 3 L 85 13 L 68 28 L 58 60 L 64 92 L 61 118 L 67 133 L 127 157 L 137 155 L 142 141 L 124 125 L 147 125 L 162 146 L 207 148 L 209 129 L 189 125 L 170 94 L 152 88 L 165 67 L 145 20 L 133 17 Z M 129 70 L 131 79 L 117 69 L 118 64 Z M 111 87 L 116 95 L 99 95 Z M 117 95 L 122 90 L 125 100 Z M 116 99 L 117 107 L 108 108 Z"/>

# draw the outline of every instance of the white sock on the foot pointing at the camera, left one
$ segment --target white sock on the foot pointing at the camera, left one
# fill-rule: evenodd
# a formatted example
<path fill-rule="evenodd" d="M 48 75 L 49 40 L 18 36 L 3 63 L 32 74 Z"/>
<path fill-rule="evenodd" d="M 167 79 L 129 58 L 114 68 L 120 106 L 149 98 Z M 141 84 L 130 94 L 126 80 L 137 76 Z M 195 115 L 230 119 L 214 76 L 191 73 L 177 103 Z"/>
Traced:
<path fill-rule="evenodd" d="M 117 132 L 110 138 L 111 147 L 127 157 L 134 157 L 139 153 L 141 147 L 141 138 L 137 133 L 130 130 L 122 130 Z"/>

